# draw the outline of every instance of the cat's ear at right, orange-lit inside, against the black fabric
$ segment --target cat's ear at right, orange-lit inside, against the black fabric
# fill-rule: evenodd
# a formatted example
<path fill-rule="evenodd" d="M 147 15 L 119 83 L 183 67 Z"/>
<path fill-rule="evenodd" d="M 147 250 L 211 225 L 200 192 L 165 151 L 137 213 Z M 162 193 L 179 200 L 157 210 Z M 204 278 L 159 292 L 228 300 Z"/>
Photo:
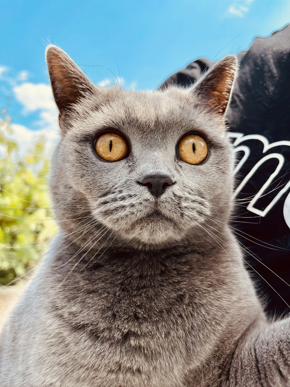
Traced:
<path fill-rule="evenodd" d="M 218 62 L 203 79 L 194 87 L 194 94 L 210 110 L 222 115 L 225 113 L 230 99 L 230 91 L 235 79 L 237 60 L 234 55 L 228 55 Z"/>

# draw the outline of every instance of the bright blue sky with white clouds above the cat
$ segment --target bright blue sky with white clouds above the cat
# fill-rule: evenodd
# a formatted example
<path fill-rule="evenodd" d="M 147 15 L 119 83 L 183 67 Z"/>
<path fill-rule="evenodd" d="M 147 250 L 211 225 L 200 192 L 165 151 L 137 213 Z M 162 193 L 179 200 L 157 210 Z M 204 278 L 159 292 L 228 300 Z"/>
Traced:
<path fill-rule="evenodd" d="M 116 77 L 120 72 L 125 88 L 147 90 L 198 57 L 218 60 L 245 50 L 255 36 L 287 22 L 289 0 L 5 1 L 0 109 L 7 109 L 20 137 L 26 128 L 56 133 L 48 43 L 67 51 L 96 84 L 114 77 L 91 65 Z"/>

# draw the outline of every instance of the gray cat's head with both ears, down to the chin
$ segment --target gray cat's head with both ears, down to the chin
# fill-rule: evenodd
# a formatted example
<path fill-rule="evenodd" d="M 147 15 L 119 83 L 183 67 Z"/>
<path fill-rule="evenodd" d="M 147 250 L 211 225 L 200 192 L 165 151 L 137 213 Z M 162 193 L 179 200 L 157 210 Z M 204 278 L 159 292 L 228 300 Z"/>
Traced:
<path fill-rule="evenodd" d="M 198 236 L 212 218 L 226 222 L 234 156 L 223 115 L 234 56 L 193 89 L 151 93 L 96 87 L 55 46 L 46 58 L 61 128 L 51 187 L 70 238 L 159 248 Z"/>

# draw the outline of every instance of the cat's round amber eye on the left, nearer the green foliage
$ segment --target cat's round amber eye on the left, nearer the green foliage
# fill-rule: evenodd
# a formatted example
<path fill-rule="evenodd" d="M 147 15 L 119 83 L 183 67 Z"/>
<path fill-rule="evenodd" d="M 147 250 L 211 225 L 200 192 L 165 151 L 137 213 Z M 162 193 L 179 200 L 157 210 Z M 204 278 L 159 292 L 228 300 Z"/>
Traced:
<path fill-rule="evenodd" d="M 97 154 L 107 161 L 118 161 L 126 157 L 128 146 L 125 139 L 117 133 L 104 133 L 95 143 Z"/>

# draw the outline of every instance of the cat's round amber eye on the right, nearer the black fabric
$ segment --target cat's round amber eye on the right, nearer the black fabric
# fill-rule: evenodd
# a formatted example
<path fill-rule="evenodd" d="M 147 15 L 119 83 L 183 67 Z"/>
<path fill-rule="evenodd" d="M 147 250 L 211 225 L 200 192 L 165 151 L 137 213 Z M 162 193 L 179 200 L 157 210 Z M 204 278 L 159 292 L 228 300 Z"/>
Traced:
<path fill-rule="evenodd" d="M 185 163 L 200 164 L 208 154 L 208 147 L 202 137 L 188 134 L 179 141 L 178 153 Z"/>

